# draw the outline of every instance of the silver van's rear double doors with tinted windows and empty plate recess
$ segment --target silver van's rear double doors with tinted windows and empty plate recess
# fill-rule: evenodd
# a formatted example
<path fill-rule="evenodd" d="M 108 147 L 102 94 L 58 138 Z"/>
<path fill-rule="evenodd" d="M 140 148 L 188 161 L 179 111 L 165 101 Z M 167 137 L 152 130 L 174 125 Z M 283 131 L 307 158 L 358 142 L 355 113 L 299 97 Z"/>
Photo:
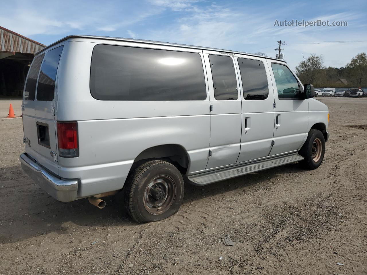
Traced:
<path fill-rule="evenodd" d="M 26 153 L 58 173 L 55 130 L 55 85 L 63 46 L 36 56 L 23 95 L 23 131 Z"/>

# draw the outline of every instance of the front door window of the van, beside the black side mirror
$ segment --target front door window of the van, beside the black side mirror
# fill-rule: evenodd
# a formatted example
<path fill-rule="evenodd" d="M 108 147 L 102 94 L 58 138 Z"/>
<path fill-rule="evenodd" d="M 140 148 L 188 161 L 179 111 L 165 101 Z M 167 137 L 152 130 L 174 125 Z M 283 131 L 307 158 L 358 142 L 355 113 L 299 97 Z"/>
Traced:
<path fill-rule="evenodd" d="M 279 99 L 301 99 L 297 79 L 287 66 L 272 63 Z"/>

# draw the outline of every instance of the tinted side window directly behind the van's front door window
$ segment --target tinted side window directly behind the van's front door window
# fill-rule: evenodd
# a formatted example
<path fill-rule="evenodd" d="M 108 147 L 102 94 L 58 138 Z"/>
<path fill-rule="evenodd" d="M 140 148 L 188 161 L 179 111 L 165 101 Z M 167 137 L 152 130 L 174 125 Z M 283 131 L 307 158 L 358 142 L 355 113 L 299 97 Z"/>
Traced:
<path fill-rule="evenodd" d="M 269 95 L 268 78 L 264 63 L 259 60 L 238 58 L 245 100 L 267 99 Z"/>

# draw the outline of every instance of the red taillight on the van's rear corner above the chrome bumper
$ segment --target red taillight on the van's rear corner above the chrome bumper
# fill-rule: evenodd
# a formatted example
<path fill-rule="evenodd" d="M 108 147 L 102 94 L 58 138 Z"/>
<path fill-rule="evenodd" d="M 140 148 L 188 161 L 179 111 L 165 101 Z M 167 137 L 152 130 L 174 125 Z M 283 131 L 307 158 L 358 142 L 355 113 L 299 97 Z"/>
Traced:
<path fill-rule="evenodd" d="M 78 157 L 78 125 L 76 122 L 57 122 L 60 157 Z"/>

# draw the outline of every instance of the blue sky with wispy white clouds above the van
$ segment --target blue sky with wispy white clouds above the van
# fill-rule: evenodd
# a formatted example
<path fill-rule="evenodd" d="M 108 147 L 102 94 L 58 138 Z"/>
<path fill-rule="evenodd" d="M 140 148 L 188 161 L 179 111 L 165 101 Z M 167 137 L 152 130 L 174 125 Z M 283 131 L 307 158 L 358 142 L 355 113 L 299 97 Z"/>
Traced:
<path fill-rule="evenodd" d="M 346 27 L 274 26 L 275 20 L 348 21 Z M 265 52 L 276 41 L 367 40 L 367 1 L 32 1 L 1 4 L 0 25 L 50 44 L 70 34 L 129 37 Z M 367 43 L 286 43 L 285 60 L 295 67 L 310 54 L 324 65 L 345 66 Z"/>

